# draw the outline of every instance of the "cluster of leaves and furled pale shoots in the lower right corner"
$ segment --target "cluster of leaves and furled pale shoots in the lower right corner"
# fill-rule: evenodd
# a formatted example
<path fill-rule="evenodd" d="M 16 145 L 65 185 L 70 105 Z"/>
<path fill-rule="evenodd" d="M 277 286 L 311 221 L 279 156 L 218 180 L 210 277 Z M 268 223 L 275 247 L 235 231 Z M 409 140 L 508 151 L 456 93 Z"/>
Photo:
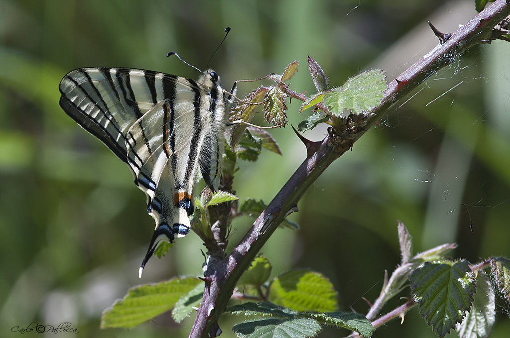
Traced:
<path fill-rule="evenodd" d="M 455 244 L 443 244 L 413 257 L 411 236 L 401 223 L 399 240 L 402 262 L 385 283 L 382 303 L 409 281 L 420 315 L 440 337 L 451 329 L 461 338 L 489 336 L 496 318 L 495 291 L 510 306 L 510 260 L 499 257 L 470 264 L 447 259 Z M 490 278 L 484 271 L 488 267 Z"/>

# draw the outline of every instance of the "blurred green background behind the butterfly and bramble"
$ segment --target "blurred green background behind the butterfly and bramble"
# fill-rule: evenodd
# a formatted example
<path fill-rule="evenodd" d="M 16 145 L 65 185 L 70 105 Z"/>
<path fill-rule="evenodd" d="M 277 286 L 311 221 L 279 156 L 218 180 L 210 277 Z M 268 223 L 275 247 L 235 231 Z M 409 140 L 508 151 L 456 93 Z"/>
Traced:
<path fill-rule="evenodd" d="M 119 66 L 196 78 L 165 54 L 177 51 L 203 69 L 230 26 L 210 62 L 224 88 L 298 60 L 291 88 L 313 94 L 308 54 L 334 86 L 376 67 L 392 80 L 437 44 L 427 20 L 451 32 L 474 15 L 471 0 L 0 0 L 0 336 L 19 334 L 10 332 L 16 325 L 70 322 L 81 337 L 181 337 L 192 324 L 165 314 L 131 331 L 98 328 L 101 312 L 128 288 L 199 274 L 202 246 L 194 234 L 176 241 L 138 279 L 154 221 L 125 164 L 58 106 L 68 71 Z M 507 43 L 472 48 L 398 103 L 305 194 L 291 216 L 301 230 L 277 230 L 269 240 L 263 252 L 273 274 L 324 273 L 343 311 L 366 313 L 362 297 L 373 301 L 384 271 L 400 260 L 397 219 L 415 251 L 457 242 L 456 258 L 510 257 L 509 60 Z M 239 93 L 252 88 L 242 83 Z M 297 113 L 299 102 L 288 106 L 294 126 L 310 114 Z M 268 203 L 305 157 L 291 128 L 271 132 L 283 156 L 266 151 L 257 163 L 240 163 L 241 199 Z M 249 224 L 233 224 L 231 244 Z M 510 320 L 501 303 L 497 310 L 492 337 L 506 338 Z M 225 318 L 222 336 L 233 336 L 241 319 Z M 320 336 L 347 334 L 326 328 Z M 436 335 L 414 310 L 375 336 Z"/>

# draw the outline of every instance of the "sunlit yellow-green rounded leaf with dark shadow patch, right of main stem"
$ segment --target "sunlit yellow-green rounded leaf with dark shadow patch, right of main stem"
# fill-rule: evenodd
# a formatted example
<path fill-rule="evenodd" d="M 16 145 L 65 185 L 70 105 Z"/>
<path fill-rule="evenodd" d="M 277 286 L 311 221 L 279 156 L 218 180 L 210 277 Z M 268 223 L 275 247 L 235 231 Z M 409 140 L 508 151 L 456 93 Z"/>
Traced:
<path fill-rule="evenodd" d="M 269 300 L 295 311 L 333 312 L 338 309 L 337 292 L 322 274 L 294 270 L 273 279 Z"/>

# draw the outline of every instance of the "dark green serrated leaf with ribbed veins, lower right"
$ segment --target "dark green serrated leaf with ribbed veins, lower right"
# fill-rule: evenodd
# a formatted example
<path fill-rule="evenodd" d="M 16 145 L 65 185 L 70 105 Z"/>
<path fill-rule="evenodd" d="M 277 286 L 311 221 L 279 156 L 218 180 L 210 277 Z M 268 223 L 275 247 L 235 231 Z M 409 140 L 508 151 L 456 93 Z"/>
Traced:
<path fill-rule="evenodd" d="M 473 301 L 474 273 L 468 262 L 425 262 L 410 277 L 420 314 L 440 337 L 460 322 Z"/>

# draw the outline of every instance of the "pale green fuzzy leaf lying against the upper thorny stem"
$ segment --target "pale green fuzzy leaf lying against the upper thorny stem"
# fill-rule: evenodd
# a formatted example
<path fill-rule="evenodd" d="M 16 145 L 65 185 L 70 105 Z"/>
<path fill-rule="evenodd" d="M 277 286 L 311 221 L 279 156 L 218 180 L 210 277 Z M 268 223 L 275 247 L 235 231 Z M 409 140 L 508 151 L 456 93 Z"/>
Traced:
<path fill-rule="evenodd" d="M 387 88 L 384 71 L 368 70 L 351 77 L 342 87 L 326 92 L 323 102 L 329 108 L 329 112 L 336 116 L 343 116 L 344 109 L 361 114 L 378 106 Z"/>

